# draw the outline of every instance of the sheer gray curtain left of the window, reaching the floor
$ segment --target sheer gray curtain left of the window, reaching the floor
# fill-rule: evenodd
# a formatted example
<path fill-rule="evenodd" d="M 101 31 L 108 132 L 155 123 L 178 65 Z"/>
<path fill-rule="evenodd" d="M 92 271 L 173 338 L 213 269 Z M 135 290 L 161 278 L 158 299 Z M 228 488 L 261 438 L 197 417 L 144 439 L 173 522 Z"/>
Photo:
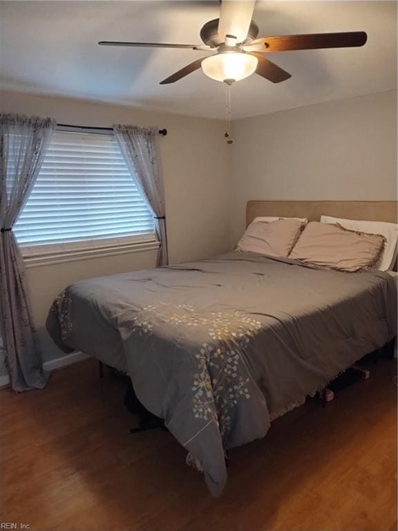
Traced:
<path fill-rule="evenodd" d="M 0 324 L 12 389 L 42 389 L 25 267 L 12 225 L 23 209 L 55 130 L 50 118 L 0 114 Z"/>

